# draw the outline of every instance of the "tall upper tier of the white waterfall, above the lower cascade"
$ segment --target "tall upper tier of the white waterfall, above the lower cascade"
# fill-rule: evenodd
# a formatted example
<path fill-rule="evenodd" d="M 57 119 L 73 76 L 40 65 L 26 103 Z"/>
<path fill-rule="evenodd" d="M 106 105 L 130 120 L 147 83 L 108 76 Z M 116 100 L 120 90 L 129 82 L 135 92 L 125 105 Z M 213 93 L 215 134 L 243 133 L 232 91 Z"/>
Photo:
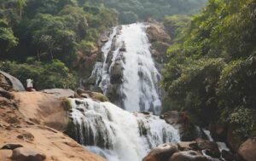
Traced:
<path fill-rule="evenodd" d="M 160 114 L 161 76 L 154 66 L 146 29 L 143 23 L 114 27 L 102 46 L 102 69 L 96 64 L 100 74 L 91 77 L 96 77 L 96 85 L 117 106 L 130 112 Z"/>

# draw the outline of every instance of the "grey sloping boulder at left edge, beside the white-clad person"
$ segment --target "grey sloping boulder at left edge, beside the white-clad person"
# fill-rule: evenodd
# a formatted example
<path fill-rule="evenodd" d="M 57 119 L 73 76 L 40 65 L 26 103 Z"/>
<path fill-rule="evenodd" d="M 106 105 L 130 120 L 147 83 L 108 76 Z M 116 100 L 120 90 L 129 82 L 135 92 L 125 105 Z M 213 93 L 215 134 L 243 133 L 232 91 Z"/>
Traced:
<path fill-rule="evenodd" d="M 20 83 L 20 80 L 3 71 L 0 71 L 0 87 L 7 90 L 25 90 L 22 83 Z"/>

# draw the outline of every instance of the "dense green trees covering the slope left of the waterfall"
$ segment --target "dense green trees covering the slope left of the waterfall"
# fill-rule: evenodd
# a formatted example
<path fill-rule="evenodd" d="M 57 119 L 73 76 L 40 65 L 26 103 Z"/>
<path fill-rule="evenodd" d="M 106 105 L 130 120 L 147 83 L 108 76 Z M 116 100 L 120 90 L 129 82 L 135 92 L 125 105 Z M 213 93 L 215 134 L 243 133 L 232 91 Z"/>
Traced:
<path fill-rule="evenodd" d="M 2 62 L 1 70 L 22 81 L 33 78 L 38 89 L 73 88 L 76 76 L 67 67 L 73 70 L 73 62 L 95 54 L 100 33 L 116 23 L 115 12 L 102 5 L 77 0 L 2 0 L 0 59 L 16 62 Z M 67 83 L 68 78 L 73 81 Z"/>

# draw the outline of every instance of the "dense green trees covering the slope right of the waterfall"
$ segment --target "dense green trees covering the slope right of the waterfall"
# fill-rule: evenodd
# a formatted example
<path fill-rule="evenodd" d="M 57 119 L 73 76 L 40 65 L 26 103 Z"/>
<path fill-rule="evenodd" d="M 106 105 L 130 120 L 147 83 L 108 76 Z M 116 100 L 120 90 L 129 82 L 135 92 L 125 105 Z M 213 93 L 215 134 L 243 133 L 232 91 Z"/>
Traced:
<path fill-rule="evenodd" d="M 241 140 L 256 136 L 256 1 L 210 0 L 168 49 L 163 86 L 170 109 L 207 125 L 235 126 Z M 169 17 L 167 26 L 187 19 Z M 196 120 L 195 120 L 196 121 Z"/>

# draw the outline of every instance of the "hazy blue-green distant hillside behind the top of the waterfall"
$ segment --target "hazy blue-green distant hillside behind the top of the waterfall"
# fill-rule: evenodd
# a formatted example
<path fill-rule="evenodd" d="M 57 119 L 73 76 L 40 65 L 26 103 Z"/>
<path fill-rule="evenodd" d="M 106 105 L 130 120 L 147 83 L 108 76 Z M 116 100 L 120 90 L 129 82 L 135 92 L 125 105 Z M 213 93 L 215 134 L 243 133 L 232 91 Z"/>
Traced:
<path fill-rule="evenodd" d="M 83 0 L 81 0 L 83 1 Z M 122 24 L 154 18 L 162 20 L 171 14 L 195 14 L 207 0 L 84 0 L 90 3 L 103 3 L 116 9 Z"/>

